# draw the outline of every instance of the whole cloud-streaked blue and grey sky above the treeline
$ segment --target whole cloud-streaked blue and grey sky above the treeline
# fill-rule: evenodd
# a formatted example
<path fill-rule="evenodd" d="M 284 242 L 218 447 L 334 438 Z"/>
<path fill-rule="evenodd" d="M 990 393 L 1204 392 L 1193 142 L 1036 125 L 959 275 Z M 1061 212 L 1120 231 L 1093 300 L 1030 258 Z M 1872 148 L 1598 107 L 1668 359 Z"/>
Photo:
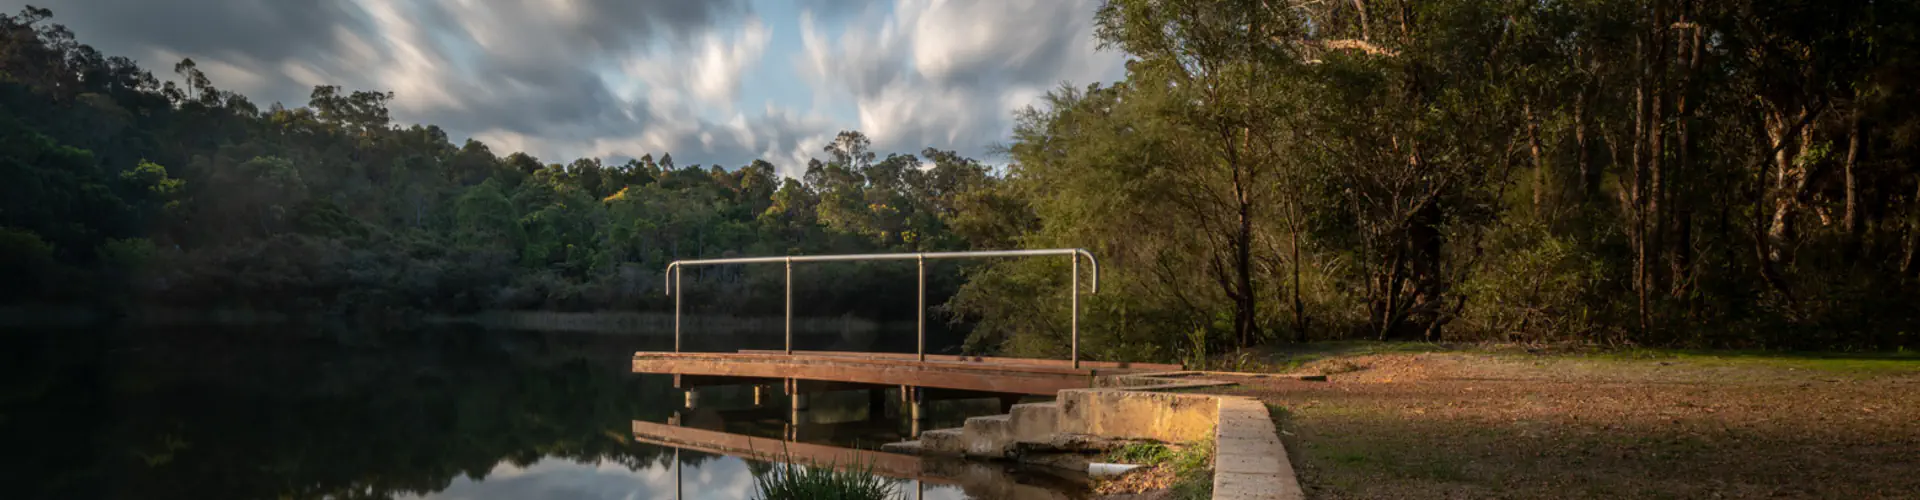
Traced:
<path fill-rule="evenodd" d="M 672 154 L 799 175 L 839 131 L 1000 163 L 1014 110 L 1110 83 L 1098 0 L 0 0 L 156 77 L 303 106 L 392 90 L 399 123 L 549 163 Z"/>

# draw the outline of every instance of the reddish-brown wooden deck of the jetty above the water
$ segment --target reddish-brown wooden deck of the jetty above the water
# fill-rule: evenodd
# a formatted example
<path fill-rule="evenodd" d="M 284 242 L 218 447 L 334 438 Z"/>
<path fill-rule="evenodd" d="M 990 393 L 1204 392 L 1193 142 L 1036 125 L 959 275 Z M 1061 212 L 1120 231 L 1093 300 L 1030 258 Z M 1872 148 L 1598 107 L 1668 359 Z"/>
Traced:
<path fill-rule="evenodd" d="M 877 387 L 925 387 L 973 392 L 1052 396 L 1062 388 L 1089 388 L 1100 375 L 1177 371 L 1179 365 L 1108 363 L 977 356 L 868 352 L 636 352 L 634 373 L 682 377 L 803 379 Z"/>

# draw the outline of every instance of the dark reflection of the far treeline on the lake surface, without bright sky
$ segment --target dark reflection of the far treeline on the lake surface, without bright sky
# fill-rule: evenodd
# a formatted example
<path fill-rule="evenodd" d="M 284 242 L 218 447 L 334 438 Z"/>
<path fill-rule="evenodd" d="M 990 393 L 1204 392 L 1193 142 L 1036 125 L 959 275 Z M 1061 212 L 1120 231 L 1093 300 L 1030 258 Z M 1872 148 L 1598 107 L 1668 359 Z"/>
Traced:
<path fill-rule="evenodd" d="M 632 419 L 672 412 L 672 387 L 622 363 L 486 342 L 346 350 L 284 337 L 127 338 L 10 340 L 31 344 L 8 356 L 31 363 L 10 363 L 21 373 L 8 373 L 0 392 L 0 425 L 21 437 L 10 442 L 35 454 L 15 469 L 27 473 L 15 488 L 48 498 L 390 498 L 480 479 L 499 462 L 672 463 L 672 450 L 628 437 Z"/>

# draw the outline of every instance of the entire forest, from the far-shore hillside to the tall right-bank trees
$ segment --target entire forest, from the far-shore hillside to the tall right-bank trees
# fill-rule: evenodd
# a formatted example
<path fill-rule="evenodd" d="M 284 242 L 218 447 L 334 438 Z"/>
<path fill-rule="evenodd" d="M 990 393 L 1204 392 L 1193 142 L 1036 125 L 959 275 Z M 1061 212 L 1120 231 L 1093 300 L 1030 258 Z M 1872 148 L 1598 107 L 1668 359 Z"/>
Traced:
<path fill-rule="evenodd" d="M 1125 79 L 1018 110 L 1004 167 L 849 131 L 803 179 L 501 156 L 378 90 L 259 108 L 50 15 L 0 17 L 0 302 L 660 310 L 676 258 L 1083 246 L 1094 358 L 1920 346 L 1912 2 L 1114 0 Z M 941 317 L 1066 356 L 1064 267 L 952 271 Z M 778 273 L 687 287 L 778 313 Z M 812 273 L 912 308 L 910 265 Z"/>

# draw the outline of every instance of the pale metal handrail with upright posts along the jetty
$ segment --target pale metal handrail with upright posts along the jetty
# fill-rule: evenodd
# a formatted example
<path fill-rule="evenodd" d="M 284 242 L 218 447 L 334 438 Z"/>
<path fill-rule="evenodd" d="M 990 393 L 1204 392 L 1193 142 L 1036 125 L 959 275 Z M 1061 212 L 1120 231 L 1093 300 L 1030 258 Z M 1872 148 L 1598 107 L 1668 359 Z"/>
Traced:
<path fill-rule="evenodd" d="M 927 360 L 927 260 L 966 260 L 966 258 L 1033 258 L 1033 256 L 1071 256 L 1073 260 L 1073 287 L 1069 287 L 1073 306 L 1071 306 L 1071 335 L 1073 335 L 1073 367 L 1079 367 L 1079 258 L 1085 256 L 1087 263 L 1092 265 L 1092 287 L 1091 294 L 1100 292 L 1100 262 L 1092 258 L 1092 252 L 1085 248 L 1044 248 L 1044 250 L 979 250 L 979 252 L 916 252 L 916 254 L 837 254 L 837 256 L 781 256 L 781 258 L 724 258 L 724 260 L 676 260 L 666 263 L 666 294 L 674 296 L 674 352 L 680 352 L 680 271 L 687 265 L 726 265 L 726 263 L 787 263 L 787 354 L 793 354 L 793 263 L 795 262 L 854 262 L 854 260 L 914 260 L 920 262 L 920 312 L 918 335 L 920 335 L 920 362 Z"/>

